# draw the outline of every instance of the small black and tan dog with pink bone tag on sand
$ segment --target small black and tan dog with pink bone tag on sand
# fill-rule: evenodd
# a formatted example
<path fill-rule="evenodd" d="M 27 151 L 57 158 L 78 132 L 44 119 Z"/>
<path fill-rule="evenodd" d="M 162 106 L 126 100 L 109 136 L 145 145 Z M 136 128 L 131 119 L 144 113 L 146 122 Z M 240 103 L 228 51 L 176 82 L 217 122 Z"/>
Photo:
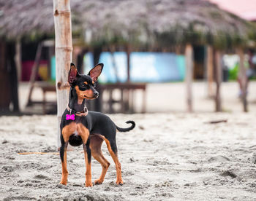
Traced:
<path fill-rule="evenodd" d="M 110 162 L 102 154 L 101 146 L 105 141 L 111 157 L 116 165 L 116 184 L 123 184 L 121 178 L 121 164 L 118 161 L 116 147 L 116 130 L 127 132 L 135 127 L 135 122 L 130 127 L 117 127 L 115 123 L 105 114 L 87 111 L 86 99 L 94 99 L 99 92 L 94 89 L 95 82 L 101 74 L 103 64 L 89 71 L 88 75 L 80 75 L 75 65 L 71 63 L 68 82 L 70 84 L 69 104 L 61 119 L 61 148 L 60 157 L 62 165 L 61 184 L 67 185 L 67 145 L 80 146 L 86 160 L 86 186 L 92 186 L 91 182 L 91 155 L 102 165 L 102 173 L 94 184 L 102 184 L 107 173 Z"/>

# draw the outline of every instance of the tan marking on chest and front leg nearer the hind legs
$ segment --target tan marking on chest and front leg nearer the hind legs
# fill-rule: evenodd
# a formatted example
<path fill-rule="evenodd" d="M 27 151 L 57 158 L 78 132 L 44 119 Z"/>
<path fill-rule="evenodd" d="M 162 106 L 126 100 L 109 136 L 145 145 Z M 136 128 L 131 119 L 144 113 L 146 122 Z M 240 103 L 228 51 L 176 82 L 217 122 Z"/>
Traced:
<path fill-rule="evenodd" d="M 78 135 L 80 135 L 83 140 L 83 146 L 84 146 L 83 151 L 84 151 L 84 157 L 86 160 L 86 187 L 88 187 L 88 186 L 92 186 L 91 162 L 89 162 L 88 154 L 85 150 L 85 146 L 86 146 L 87 140 L 89 138 L 89 130 L 83 124 L 78 124 L 77 127 L 78 127 Z"/>

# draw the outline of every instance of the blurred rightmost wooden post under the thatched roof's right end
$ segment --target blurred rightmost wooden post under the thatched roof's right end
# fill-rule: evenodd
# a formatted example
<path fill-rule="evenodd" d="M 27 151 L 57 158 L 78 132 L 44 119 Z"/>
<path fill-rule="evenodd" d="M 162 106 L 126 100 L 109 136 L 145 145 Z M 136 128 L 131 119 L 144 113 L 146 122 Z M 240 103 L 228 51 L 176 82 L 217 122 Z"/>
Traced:
<path fill-rule="evenodd" d="M 239 55 L 239 75 L 241 76 L 240 79 L 241 79 L 241 98 L 242 98 L 242 103 L 243 103 L 243 110 L 245 112 L 248 111 L 248 104 L 247 104 L 247 99 L 246 99 L 246 88 L 247 88 L 247 77 L 246 77 L 246 69 L 244 67 L 244 50 L 242 49 L 238 49 L 237 50 L 237 54 Z"/>

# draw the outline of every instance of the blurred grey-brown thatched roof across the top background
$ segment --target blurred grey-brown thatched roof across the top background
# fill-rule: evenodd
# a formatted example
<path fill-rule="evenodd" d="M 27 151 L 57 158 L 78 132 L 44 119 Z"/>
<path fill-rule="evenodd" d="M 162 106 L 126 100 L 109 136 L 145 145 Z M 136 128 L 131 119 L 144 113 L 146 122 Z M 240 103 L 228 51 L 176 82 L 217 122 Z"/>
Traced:
<path fill-rule="evenodd" d="M 255 25 L 203 0 L 70 0 L 72 31 L 96 44 L 244 44 Z M 0 0 L 0 35 L 53 34 L 52 0 Z"/>

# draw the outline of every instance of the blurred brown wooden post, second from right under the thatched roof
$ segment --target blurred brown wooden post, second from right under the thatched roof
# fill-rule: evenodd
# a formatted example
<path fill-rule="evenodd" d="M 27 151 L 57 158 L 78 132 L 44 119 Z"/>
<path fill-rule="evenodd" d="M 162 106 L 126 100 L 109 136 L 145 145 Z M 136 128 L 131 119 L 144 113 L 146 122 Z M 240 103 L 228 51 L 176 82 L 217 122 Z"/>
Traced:
<path fill-rule="evenodd" d="M 222 83 L 222 54 L 219 50 L 215 51 L 215 82 L 216 82 L 216 96 L 215 96 L 215 111 L 222 111 L 220 85 Z"/>

